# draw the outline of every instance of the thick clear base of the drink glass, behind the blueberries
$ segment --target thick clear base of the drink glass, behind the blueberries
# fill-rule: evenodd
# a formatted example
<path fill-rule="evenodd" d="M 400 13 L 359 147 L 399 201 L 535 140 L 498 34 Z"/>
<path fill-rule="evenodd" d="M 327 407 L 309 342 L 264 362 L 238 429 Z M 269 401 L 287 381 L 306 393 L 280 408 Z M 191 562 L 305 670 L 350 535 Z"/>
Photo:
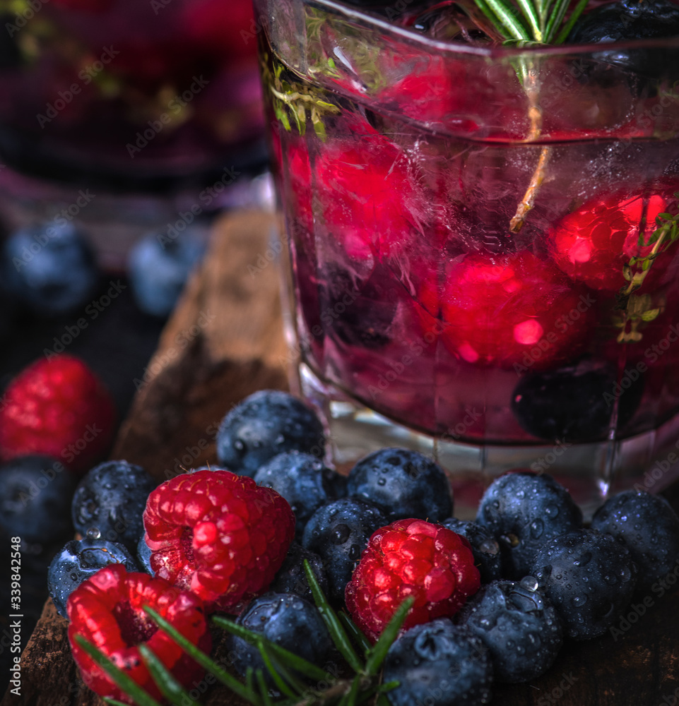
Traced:
<path fill-rule="evenodd" d="M 609 495 L 636 487 L 657 493 L 679 477 L 679 415 L 659 429 L 625 439 L 546 445 L 474 445 L 408 429 L 352 400 L 305 363 L 298 392 L 319 410 L 331 441 L 329 463 L 341 471 L 367 453 L 402 446 L 433 457 L 449 474 L 455 516 L 476 516 L 483 491 L 512 469 L 548 473 L 565 486 L 589 520 Z"/>

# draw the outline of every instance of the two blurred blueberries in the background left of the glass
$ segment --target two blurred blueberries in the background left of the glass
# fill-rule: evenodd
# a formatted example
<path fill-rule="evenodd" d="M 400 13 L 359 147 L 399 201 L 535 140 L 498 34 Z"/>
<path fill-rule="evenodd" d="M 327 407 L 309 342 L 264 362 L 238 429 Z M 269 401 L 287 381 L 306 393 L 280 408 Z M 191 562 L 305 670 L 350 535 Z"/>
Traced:
<path fill-rule="evenodd" d="M 139 309 L 150 316 L 167 316 L 204 250 L 205 239 L 198 229 L 187 229 L 176 238 L 150 233 L 137 241 L 127 269 Z M 0 247 L 0 284 L 2 293 L 23 310 L 53 318 L 89 304 L 100 287 L 101 273 L 83 233 L 73 222 L 57 218 L 5 239 Z M 5 316 L 7 328 L 10 317 Z"/>

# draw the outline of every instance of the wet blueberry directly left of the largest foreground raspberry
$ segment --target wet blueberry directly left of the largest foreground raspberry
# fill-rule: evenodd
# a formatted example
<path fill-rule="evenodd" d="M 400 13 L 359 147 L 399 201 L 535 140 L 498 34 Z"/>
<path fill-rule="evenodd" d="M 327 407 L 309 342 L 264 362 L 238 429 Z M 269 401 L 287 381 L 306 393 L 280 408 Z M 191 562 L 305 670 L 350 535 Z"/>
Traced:
<path fill-rule="evenodd" d="M 83 477 L 73 495 L 73 525 L 83 535 L 96 528 L 103 539 L 136 551 L 146 500 L 155 486 L 141 466 L 126 461 L 101 463 Z"/>

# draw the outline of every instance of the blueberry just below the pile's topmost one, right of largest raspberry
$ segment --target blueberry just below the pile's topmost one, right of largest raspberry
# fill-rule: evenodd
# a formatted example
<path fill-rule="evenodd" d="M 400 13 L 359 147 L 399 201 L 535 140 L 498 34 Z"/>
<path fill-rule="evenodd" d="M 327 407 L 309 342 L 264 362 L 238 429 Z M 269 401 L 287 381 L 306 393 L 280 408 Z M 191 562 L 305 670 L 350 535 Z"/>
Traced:
<path fill-rule="evenodd" d="M 290 503 L 297 520 L 295 534 L 300 539 L 309 517 L 334 499 L 333 474 L 317 457 L 288 451 L 266 462 L 254 474 L 254 480 L 257 485 L 273 488 Z"/>

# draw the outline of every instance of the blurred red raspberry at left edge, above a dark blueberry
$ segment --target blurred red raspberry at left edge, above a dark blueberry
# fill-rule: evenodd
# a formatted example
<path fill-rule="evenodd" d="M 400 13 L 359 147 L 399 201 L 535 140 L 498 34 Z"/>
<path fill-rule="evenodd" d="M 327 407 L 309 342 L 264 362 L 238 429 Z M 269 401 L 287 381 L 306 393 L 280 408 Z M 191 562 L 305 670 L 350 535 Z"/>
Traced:
<path fill-rule="evenodd" d="M 9 384 L 0 406 L 3 460 L 44 454 L 85 472 L 108 449 L 115 431 L 112 397 L 78 358 L 35 361 Z"/>

